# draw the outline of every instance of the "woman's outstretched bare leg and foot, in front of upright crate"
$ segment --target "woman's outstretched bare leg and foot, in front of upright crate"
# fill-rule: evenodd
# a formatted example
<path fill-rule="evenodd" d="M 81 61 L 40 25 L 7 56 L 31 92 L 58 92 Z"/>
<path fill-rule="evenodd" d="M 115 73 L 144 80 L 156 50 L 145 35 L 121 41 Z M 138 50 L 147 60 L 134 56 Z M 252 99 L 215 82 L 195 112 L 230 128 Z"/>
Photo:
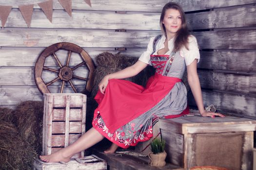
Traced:
<path fill-rule="evenodd" d="M 68 147 L 63 148 L 56 153 L 45 156 L 40 155 L 39 157 L 44 162 L 68 162 L 74 154 L 95 145 L 103 138 L 104 136 L 102 136 L 96 129 L 91 128 Z"/>

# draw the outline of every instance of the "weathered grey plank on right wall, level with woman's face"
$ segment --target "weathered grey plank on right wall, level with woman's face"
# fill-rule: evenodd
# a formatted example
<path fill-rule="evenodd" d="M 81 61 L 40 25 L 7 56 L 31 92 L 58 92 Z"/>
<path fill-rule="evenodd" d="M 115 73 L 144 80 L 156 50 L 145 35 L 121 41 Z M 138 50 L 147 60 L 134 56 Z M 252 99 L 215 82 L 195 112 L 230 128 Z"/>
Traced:
<path fill-rule="evenodd" d="M 214 11 L 187 14 L 192 29 L 215 29 L 256 26 L 256 6 L 220 8 Z M 246 18 L 246 19 L 242 19 Z"/>

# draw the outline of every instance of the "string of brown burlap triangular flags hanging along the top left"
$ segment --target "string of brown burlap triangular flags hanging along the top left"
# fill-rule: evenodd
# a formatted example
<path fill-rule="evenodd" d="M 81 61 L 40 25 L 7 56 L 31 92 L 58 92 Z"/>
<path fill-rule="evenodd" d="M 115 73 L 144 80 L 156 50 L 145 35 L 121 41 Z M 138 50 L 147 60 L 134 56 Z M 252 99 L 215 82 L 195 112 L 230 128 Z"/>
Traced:
<path fill-rule="evenodd" d="M 58 0 L 60 5 L 65 9 L 68 15 L 72 16 L 72 0 Z M 91 0 L 84 0 L 90 7 L 92 7 Z M 52 22 L 53 17 L 53 0 L 47 0 L 38 3 L 47 19 Z M 34 4 L 19 5 L 20 13 L 24 18 L 28 27 L 30 27 Z M 0 5 L 0 19 L 2 28 L 4 27 L 7 18 L 12 10 L 12 6 Z"/>

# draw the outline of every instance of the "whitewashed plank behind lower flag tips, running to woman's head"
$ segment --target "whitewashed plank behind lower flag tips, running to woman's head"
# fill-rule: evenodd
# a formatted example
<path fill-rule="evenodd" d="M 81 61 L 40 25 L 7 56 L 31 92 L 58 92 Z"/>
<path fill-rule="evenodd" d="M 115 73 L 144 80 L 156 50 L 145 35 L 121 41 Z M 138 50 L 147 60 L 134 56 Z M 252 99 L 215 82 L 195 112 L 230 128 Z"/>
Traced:
<path fill-rule="evenodd" d="M 137 18 L 137 19 L 134 19 Z M 33 13 L 30 28 L 77 28 L 77 29 L 112 29 L 112 30 L 160 30 L 159 13 L 118 14 L 115 12 L 74 11 L 69 17 L 63 10 L 54 11 L 52 23 L 42 11 Z M 20 11 L 13 10 L 5 27 L 27 28 Z"/>

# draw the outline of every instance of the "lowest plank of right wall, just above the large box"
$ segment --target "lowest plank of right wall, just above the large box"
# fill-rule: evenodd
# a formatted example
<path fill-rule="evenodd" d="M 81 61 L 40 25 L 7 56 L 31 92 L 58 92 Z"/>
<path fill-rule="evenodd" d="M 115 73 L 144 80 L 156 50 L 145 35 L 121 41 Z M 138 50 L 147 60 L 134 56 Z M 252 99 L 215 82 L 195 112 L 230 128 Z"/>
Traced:
<path fill-rule="evenodd" d="M 256 116 L 256 97 L 226 92 L 202 90 L 204 105 L 213 104 L 217 110 L 241 115 Z M 196 106 L 192 93 L 188 94 L 190 105 Z"/>

